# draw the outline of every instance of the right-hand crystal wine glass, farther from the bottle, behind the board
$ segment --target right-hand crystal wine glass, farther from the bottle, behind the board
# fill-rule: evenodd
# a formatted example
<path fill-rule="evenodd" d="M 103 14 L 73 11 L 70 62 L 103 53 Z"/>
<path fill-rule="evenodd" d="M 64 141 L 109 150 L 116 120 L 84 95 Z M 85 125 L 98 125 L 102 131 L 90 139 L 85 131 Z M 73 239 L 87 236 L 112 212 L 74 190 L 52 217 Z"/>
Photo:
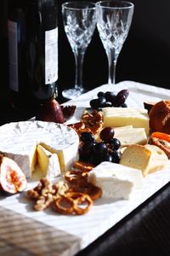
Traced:
<path fill-rule="evenodd" d="M 96 3 L 97 28 L 108 58 L 108 84 L 115 84 L 116 61 L 131 26 L 133 7 L 125 1 Z"/>

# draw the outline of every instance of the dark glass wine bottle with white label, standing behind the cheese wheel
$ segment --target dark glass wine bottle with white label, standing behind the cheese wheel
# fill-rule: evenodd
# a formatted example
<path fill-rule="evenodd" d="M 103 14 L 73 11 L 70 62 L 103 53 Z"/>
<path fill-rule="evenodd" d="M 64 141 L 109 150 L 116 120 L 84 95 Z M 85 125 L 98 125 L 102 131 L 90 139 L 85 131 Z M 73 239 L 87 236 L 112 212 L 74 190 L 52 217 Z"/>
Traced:
<path fill-rule="evenodd" d="M 8 15 L 9 86 L 15 95 L 14 105 L 36 113 L 42 102 L 57 96 L 58 0 L 11 1 L 14 6 L 9 6 Z M 17 28 L 15 37 L 10 35 L 13 22 Z M 14 38 L 16 52 L 13 52 L 14 47 L 10 50 Z M 15 70 L 13 55 L 17 55 Z M 11 78 L 16 73 L 13 84 Z"/>

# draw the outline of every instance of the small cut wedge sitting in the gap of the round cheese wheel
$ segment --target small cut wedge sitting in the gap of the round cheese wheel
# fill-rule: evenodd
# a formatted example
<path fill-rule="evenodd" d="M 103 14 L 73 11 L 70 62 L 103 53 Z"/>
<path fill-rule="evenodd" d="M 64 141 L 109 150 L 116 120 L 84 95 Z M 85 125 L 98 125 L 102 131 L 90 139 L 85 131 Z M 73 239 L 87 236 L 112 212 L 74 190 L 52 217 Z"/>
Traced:
<path fill-rule="evenodd" d="M 37 165 L 43 177 L 57 177 L 60 174 L 59 157 L 37 145 Z"/>

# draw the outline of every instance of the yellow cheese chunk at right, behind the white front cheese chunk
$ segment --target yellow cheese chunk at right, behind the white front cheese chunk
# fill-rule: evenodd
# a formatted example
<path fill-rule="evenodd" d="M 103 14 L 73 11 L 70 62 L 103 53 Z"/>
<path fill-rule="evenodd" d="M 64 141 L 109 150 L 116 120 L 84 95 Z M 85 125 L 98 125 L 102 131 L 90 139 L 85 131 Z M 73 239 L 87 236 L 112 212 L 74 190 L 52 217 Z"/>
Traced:
<path fill-rule="evenodd" d="M 156 172 L 166 167 L 167 155 L 155 145 L 129 145 L 122 153 L 120 164 L 138 168 L 144 177 L 150 172 Z"/>

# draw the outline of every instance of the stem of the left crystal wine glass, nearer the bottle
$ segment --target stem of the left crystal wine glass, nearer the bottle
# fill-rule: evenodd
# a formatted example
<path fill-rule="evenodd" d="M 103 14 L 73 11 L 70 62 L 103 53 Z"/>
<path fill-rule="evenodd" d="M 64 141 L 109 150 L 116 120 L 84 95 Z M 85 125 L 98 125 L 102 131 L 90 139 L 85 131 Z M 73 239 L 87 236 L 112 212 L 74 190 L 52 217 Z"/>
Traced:
<path fill-rule="evenodd" d="M 82 68 L 84 60 L 84 51 L 82 51 L 82 49 L 77 49 L 77 52 L 74 52 L 74 56 L 76 62 L 75 88 L 77 90 L 82 90 Z"/>

